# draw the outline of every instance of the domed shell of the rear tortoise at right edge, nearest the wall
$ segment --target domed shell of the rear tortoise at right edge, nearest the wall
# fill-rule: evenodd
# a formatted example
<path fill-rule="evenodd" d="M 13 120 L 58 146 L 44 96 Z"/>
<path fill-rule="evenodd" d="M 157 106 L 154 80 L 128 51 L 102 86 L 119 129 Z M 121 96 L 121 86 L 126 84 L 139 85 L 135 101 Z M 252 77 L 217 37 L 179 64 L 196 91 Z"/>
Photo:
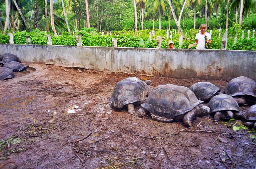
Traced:
<path fill-rule="evenodd" d="M 250 95 L 256 97 L 256 82 L 253 79 L 240 76 L 230 80 L 227 84 L 230 96 Z"/>

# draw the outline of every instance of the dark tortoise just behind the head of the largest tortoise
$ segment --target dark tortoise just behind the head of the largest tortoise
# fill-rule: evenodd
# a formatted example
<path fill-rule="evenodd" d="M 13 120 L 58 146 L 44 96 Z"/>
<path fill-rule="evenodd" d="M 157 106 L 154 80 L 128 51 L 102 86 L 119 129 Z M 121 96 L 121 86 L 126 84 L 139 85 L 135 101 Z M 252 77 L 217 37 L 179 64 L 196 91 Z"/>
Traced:
<path fill-rule="evenodd" d="M 221 89 L 210 82 L 198 82 L 190 87 L 198 100 L 209 102 L 215 95 L 223 94 Z"/>

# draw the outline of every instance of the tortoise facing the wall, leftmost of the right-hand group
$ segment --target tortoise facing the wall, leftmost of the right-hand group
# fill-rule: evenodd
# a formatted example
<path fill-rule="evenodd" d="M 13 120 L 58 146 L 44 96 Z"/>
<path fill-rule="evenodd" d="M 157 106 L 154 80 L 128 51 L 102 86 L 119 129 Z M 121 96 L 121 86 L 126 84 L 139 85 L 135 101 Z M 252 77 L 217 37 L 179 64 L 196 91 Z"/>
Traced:
<path fill-rule="evenodd" d="M 114 89 L 112 97 L 109 99 L 111 106 L 115 108 L 128 107 L 128 113 L 134 114 L 133 103 L 143 103 L 149 91 L 148 85 L 150 80 L 145 82 L 136 78 L 130 77 L 119 81 Z"/>

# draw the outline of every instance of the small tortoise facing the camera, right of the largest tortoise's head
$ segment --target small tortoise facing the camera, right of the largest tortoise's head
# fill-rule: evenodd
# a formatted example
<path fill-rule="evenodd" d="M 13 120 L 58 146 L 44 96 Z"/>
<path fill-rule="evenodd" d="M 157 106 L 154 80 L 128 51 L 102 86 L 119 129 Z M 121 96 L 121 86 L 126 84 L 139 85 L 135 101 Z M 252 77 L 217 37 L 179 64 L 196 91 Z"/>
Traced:
<path fill-rule="evenodd" d="M 210 115 L 214 117 L 214 122 L 218 123 L 221 119 L 229 120 L 234 118 L 244 119 L 239 112 L 238 103 L 232 96 L 222 94 L 214 96 L 207 106 L 211 109 Z"/>

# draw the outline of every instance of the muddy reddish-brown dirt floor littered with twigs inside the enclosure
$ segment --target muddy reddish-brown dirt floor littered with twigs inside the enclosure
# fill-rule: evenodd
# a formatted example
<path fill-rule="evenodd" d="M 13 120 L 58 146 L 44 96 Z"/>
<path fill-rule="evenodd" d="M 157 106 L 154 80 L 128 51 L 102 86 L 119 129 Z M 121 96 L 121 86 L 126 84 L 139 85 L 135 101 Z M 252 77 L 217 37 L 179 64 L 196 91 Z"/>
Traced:
<path fill-rule="evenodd" d="M 187 128 L 114 110 L 108 101 L 116 83 L 130 76 L 150 79 L 150 91 L 203 80 L 29 65 L 34 73 L 0 82 L 1 169 L 256 166 L 256 134 L 234 131 L 240 120 L 214 124 L 210 116 L 197 117 Z M 228 80 L 207 81 L 225 89 Z"/>

